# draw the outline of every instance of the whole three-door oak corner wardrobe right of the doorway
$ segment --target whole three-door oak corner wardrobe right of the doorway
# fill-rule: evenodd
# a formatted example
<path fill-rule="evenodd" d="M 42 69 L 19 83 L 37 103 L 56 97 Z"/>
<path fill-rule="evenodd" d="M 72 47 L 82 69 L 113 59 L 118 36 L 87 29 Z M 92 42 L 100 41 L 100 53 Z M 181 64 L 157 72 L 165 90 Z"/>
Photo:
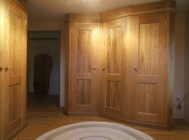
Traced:
<path fill-rule="evenodd" d="M 172 129 L 175 5 L 68 14 L 65 114 Z"/>

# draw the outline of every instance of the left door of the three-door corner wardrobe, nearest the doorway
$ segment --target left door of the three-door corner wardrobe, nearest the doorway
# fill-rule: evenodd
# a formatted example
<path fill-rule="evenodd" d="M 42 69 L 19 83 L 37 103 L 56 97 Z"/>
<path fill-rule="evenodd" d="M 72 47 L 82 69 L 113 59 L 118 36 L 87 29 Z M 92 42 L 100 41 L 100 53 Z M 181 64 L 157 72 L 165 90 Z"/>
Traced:
<path fill-rule="evenodd" d="M 71 95 L 70 111 L 96 113 L 97 23 L 70 23 Z"/>

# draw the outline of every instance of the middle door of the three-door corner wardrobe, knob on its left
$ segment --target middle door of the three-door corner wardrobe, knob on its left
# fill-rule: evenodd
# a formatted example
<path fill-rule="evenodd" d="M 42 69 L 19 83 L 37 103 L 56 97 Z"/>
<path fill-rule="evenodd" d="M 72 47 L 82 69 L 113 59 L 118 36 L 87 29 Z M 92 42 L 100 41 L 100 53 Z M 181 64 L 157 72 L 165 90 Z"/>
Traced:
<path fill-rule="evenodd" d="M 126 81 L 126 46 L 124 45 L 123 19 L 101 24 L 99 58 L 100 114 L 124 116 Z"/>

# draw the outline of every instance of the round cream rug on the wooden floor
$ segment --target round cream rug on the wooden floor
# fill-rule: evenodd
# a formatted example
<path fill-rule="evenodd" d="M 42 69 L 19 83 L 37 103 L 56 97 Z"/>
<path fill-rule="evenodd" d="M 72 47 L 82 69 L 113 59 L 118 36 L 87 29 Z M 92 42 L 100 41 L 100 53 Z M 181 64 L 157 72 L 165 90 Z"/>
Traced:
<path fill-rule="evenodd" d="M 83 122 L 54 129 L 36 140 L 153 140 L 153 138 L 116 123 Z"/>

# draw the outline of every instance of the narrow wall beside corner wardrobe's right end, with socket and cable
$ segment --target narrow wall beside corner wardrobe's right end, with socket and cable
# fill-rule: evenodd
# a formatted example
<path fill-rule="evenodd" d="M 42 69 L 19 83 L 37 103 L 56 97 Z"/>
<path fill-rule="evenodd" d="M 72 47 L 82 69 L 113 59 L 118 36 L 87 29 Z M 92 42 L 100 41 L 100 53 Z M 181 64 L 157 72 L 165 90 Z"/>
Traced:
<path fill-rule="evenodd" d="M 184 58 L 185 58 L 185 13 L 177 13 L 175 23 L 175 87 L 174 93 L 184 97 Z M 179 102 L 174 98 L 174 119 L 182 119 L 184 107 L 177 109 Z"/>

